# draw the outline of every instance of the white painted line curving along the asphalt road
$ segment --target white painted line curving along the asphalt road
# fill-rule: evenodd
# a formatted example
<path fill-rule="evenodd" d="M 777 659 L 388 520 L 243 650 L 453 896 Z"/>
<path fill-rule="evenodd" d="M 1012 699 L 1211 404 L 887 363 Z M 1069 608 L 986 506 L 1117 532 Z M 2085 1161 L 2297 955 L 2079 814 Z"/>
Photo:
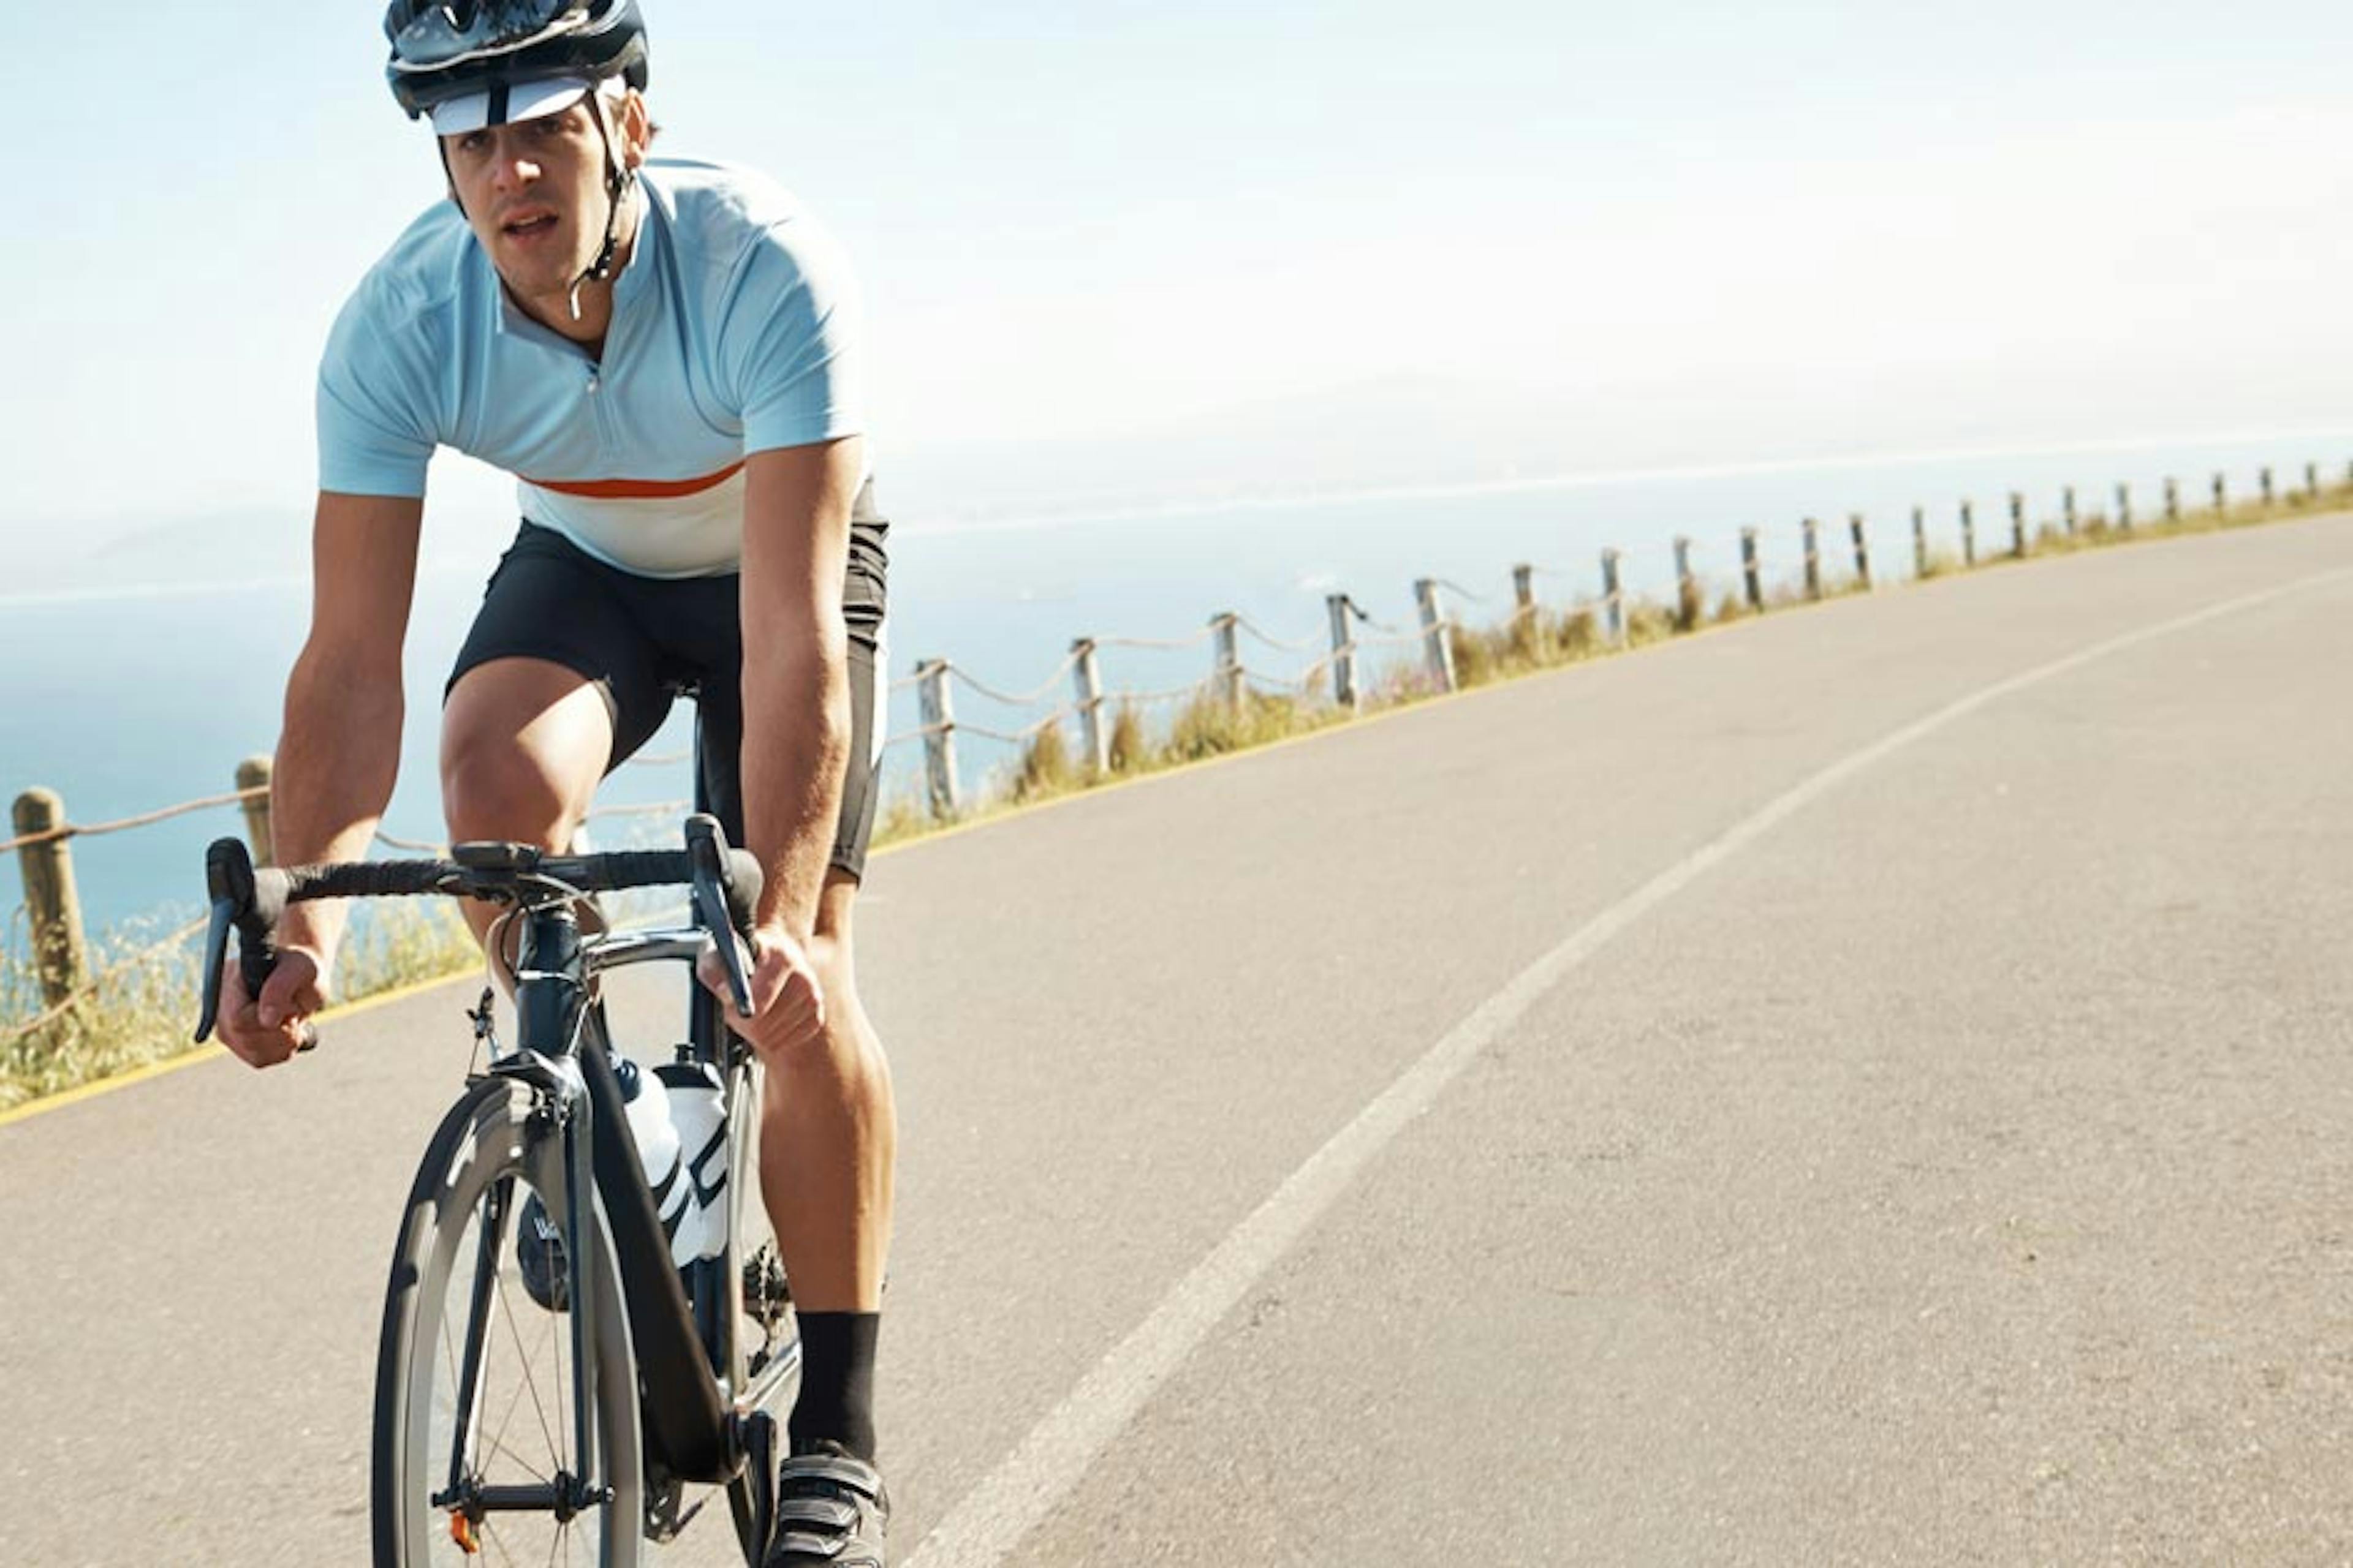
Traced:
<path fill-rule="evenodd" d="M 1974 691 L 1925 719 L 1915 719 L 1859 752 L 1833 762 L 1786 795 L 1767 802 L 1755 813 L 1732 825 L 1722 837 L 1692 851 L 1668 870 L 1659 872 L 1640 889 L 1602 910 L 1565 943 L 1522 969 L 1504 990 L 1482 1001 L 1478 1011 L 1447 1030 L 1445 1039 L 1431 1046 L 1421 1060 L 1405 1070 L 1381 1091 L 1358 1117 L 1332 1135 L 1304 1166 L 1268 1197 L 1259 1208 L 1233 1227 L 1233 1232 L 1186 1274 L 1174 1291 L 1153 1307 L 1118 1347 L 1106 1354 L 1092 1373 L 1061 1403 L 1040 1420 L 1021 1443 L 998 1462 L 946 1519 L 922 1540 L 906 1568 L 993 1568 L 1021 1544 L 1021 1537 L 1052 1512 L 1056 1502 L 1094 1460 L 1111 1446 L 1122 1427 L 1144 1408 L 1169 1373 L 1184 1366 L 1186 1356 L 1217 1328 L 1217 1324 L 1242 1300 L 1242 1295 L 1271 1269 L 1332 1204 L 1355 1180 L 1388 1143 L 1426 1112 L 1447 1084 L 1548 990 L 1560 985 L 1569 971 L 1609 945 L 1609 940 L 1638 922 L 1642 914 L 1666 903 L 1699 877 L 1708 875 L 1739 851 L 1755 844 L 1786 818 L 1814 804 L 1864 769 L 1871 769 L 1906 745 L 1922 741 L 1939 729 L 1962 719 L 1986 703 L 1995 703 L 2052 677 L 2080 670 L 2125 649 L 2186 632 L 2193 625 L 2219 621 L 2259 604 L 2353 578 L 2353 569 L 2325 571 L 2311 578 L 2266 588 L 2209 604 L 2188 616 L 2094 642 L 2087 649 L 2057 658 L 2047 665 L 2012 675 L 1981 691 Z"/>

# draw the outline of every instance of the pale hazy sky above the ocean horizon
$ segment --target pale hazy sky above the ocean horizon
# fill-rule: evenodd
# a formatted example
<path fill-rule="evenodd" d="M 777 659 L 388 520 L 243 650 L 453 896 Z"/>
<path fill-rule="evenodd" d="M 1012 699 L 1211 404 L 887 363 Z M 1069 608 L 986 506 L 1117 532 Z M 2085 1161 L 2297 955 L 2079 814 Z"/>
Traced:
<path fill-rule="evenodd" d="M 2341 5 L 645 7 L 664 148 L 849 244 L 885 454 L 1384 376 L 2353 423 Z M 320 339 L 438 197 L 381 9 L 16 9 L 0 529 L 306 515 Z"/>

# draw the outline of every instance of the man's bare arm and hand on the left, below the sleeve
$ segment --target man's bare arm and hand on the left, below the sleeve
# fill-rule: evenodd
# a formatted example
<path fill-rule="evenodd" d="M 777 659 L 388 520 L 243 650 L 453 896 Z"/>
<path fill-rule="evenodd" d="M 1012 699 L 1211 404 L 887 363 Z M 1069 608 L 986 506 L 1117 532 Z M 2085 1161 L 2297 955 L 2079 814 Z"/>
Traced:
<path fill-rule="evenodd" d="M 416 588 L 424 501 L 320 491 L 311 534 L 311 637 L 287 677 L 271 776 L 271 853 L 280 865 L 367 856 L 400 771 L 400 644 Z M 266 1067 L 294 1051 L 325 1004 L 344 936 L 334 900 L 292 905 L 278 924 L 278 971 L 259 1009 L 235 964 L 221 1006 L 231 1051 Z"/>

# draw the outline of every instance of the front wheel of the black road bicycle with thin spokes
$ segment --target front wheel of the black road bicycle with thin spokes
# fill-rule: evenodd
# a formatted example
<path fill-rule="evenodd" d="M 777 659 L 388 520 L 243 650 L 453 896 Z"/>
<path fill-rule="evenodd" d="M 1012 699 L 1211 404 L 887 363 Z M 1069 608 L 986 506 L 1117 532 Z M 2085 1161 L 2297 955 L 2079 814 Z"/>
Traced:
<path fill-rule="evenodd" d="M 435 1509 L 431 1502 L 447 1486 L 454 1465 L 456 1368 L 466 1359 L 466 1345 L 480 1347 L 466 1472 L 492 1486 L 522 1486 L 581 1469 L 569 1453 L 576 1446 L 576 1389 L 567 1366 L 572 1319 L 567 1309 L 541 1307 L 518 1267 L 515 1227 L 525 1194 L 546 1194 L 546 1213 L 558 1229 L 565 1213 L 562 1140 L 534 1124 L 532 1103 L 534 1093 L 513 1079 L 482 1079 L 468 1088 L 442 1117 L 409 1187 L 376 1349 L 369 1467 L 376 1568 L 485 1561 L 485 1537 L 513 1561 L 593 1568 L 640 1568 L 649 1561 L 638 1363 L 605 1206 L 593 1187 L 581 1194 L 588 1244 L 579 1248 L 593 1326 L 586 1385 L 595 1403 L 595 1453 L 586 1469 L 612 1488 L 612 1500 L 569 1521 L 558 1521 L 553 1512 L 487 1514 L 473 1526 L 473 1554 L 456 1540 L 452 1509 Z M 576 1241 L 579 1237 L 562 1234 L 565 1248 Z M 546 1378 L 532 1371 L 534 1347 L 553 1352 L 546 1356 Z M 520 1371 L 513 1378 L 494 1375 L 508 1356 Z M 518 1382 L 513 1392 L 506 1389 L 508 1380 Z M 506 1434 L 518 1420 L 525 1420 L 522 1434 L 511 1446 Z M 546 1455 L 539 1453 L 541 1446 Z M 501 1561 L 496 1554 L 487 1556 Z"/>

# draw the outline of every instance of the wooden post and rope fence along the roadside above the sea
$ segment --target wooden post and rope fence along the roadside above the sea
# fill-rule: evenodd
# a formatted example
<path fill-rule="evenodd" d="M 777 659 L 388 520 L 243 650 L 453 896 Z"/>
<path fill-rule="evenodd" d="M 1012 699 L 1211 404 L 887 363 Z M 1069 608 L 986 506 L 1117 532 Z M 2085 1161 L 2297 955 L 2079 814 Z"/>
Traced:
<path fill-rule="evenodd" d="M 2233 498 L 2228 475 L 2212 475 L 2202 487 L 2191 487 L 2167 477 L 2158 494 L 2137 496 L 2129 484 L 2108 491 L 2061 489 L 2057 515 L 2038 512 L 2024 491 L 2000 491 L 1991 498 L 1962 498 L 1946 508 L 1941 517 L 1929 517 L 1929 508 L 1913 505 L 1908 515 L 1908 567 L 1911 576 L 1927 578 L 1948 569 L 1967 569 L 2000 559 L 2021 559 L 2045 545 L 2066 548 L 2087 536 L 2129 536 L 2139 527 L 2184 527 L 2214 522 L 2252 522 L 2280 510 L 2313 508 L 2325 498 L 2353 498 L 2353 463 L 2339 477 L 2322 482 L 2318 463 L 2301 465 L 2301 484 L 2280 484 L 2271 468 L 2259 470 L 2254 494 Z M 1887 574 L 1875 571 L 1871 555 L 1871 524 L 1861 512 L 1838 517 L 1802 517 L 1795 522 L 1751 524 L 1737 536 L 1737 567 L 1725 567 L 1725 548 L 1711 552 L 1706 564 L 1697 562 L 1697 545 L 1689 536 L 1671 541 L 1645 541 L 1635 550 L 1605 548 L 1598 569 L 1577 569 L 1560 562 L 1520 562 L 1513 567 L 1513 597 L 1508 614 L 1494 618 L 1489 630 L 1471 625 L 1461 614 L 1452 614 L 1445 599 L 1457 604 L 1499 604 L 1489 592 L 1473 590 L 1452 578 L 1419 578 L 1414 583 L 1414 625 L 1398 625 L 1377 618 L 1348 592 L 1325 595 L 1329 639 L 1318 644 L 1311 637 L 1289 639 L 1268 632 L 1238 611 L 1219 611 L 1191 637 L 1078 637 L 1071 654 L 1028 691 L 1007 691 L 979 679 L 974 672 L 946 658 L 922 661 L 913 675 L 889 682 L 889 691 L 913 689 L 920 698 L 922 717 L 913 729 L 889 733 L 882 750 L 920 741 L 925 748 L 925 783 L 929 809 L 936 818 L 962 813 L 962 785 L 955 759 L 955 738 L 972 736 L 1007 748 L 1033 748 L 1040 736 L 1073 719 L 1085 741 L 1080 757 L 1087 771 L 1111 766 L 1108 726 L 1104 710 L 1146 710 L 1167 703 L 1207 703 L 1212 710 L 1240 712 L 1245 701 L 1329 701 L 1344 712 L 1355 712 L 1365 703 L 1367 675 L 1386 682 L 1386 693 L 1405 691 L 1454 691 L 1466 679 L 1497 668 L 1497 663 L 1522 656 L 1532 646 L 1553 646 L 1555 656 L 1598 646 L 1628 646 L 1664 632 L 1694 630 L 1708 616 L 1708 597 L 1718 597 L 1715 618 L 1734 614 L 1762 614 L 1781 604 L 1812 602 L 1833 592 L 1868 592 Z M 1767 559 L 1777 564 L 1767 569 Z M 1899 557 L 1904 559 L 1904 557 Z M 1652 585 L 1664 585 L 1671 599 L 1661 607 L 1654 597 L 1628 590 L 1628 567 L 1640 567 L 1640 576 Z M 1537 581 L 1598 585 L 1598 592 L 1572 592 L 1553 599 L 1537 595 Z M 1551 618 L 1551 621 L 1548 621 Z M 1292 670 L 1264 670 L 1242 661 L 1240 637 L 1273 654 L 1318 654 Z M 1134 654 L 1184 654 L 1209 644 L 1209 668 L 1198 679 L 1179 686 L 1136 691 L 1106 686 L 1099 670 L 1101 651 Z M 1574 646 L 1572 646 L 1574 644 Z M 1372 654 L 1393 649 L 1421 649 L 1419 663 L 1405 661 L 1386 672 L 1367 670 Z M 1318 651 L 1322 649 L 1322 651 Z M 1466 677 L 1459 663 L 1475 661 Z M 1012 710 L 1035 710 L 1056 689 L 1071 682 L 1071 696 L 1049 712 L 1009 726 L 984 726 L 958 719 L 951 689 Z M 1374 689 L 1374 701 L 1381 689 Z M 633 766 L 673 766 L 689 762 L 689 752 L 661 752 L 633 757 Z M 12 835 L 0 842 L 0 851 L 19 858 L 28 914 L 28 947 L 40 978 L 42 1011 L 31 1020 L 0 1025 L 0 1044 L 21 1039 L 40 1030 L 80 1001 L 96 994 L 104 983 L 92 973 L 87 943 L 80 929 L 80 898 L 73 884 L 68 844 L 73 839 L 104 837 L 148 827 L 195 811 L 238 806 L 245 813 L 247 839 L 254 858 L 268 863 L 271 851 L 271 759 L 247 757 L 238 764 L 238 788 L 221 795 L 186 799 L 155 811 L 125 816 L 104 823 L 73 823 L 64 802 L 52 790 L 26 790 L 16 797 Z M 588 813 L 600 818 L 647 818 L 675 816 L 687 809 L 682 799 L 647 804 L 607 804 Z M 402 839 L 379 825 L 374 844 L 400 853 L 445 853 L 442 844 Z M 165 952 L 184 943 L 205 922 L 195 922 L 162 940 L 127 954 L 127 961 Z"/>

